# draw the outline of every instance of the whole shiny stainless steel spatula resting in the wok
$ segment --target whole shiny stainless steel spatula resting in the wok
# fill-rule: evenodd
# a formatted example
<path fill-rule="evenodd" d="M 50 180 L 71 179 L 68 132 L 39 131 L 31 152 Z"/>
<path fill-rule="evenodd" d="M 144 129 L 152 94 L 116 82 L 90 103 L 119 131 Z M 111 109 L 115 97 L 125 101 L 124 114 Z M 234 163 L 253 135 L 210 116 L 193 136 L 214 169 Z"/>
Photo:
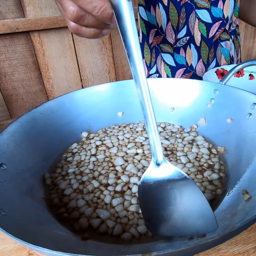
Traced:
<path fill-rule="evenodd" d="M 139 185 L 140 208 L 145 223 L 156 236 L 194 236 L 212 232 L 218 225 L 204 194 L 193 180 L 170 164 L 163 155 L 132 1 L 110 2 L 132 70 L 152 152 L 152 161 Z"/>

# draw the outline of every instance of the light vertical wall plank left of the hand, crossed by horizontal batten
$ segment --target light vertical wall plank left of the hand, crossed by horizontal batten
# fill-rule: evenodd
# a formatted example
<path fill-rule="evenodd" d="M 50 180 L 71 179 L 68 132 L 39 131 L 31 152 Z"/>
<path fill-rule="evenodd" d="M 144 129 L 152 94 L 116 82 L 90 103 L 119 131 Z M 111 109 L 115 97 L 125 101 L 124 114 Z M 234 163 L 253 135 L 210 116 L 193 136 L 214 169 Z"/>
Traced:
<path fill-rule="evenodd" d="M 21 0 L 26 18 L 60 15 L 54 0 Z M 30 32 L 49 99 L 82 88 L 68 28 Z"/>

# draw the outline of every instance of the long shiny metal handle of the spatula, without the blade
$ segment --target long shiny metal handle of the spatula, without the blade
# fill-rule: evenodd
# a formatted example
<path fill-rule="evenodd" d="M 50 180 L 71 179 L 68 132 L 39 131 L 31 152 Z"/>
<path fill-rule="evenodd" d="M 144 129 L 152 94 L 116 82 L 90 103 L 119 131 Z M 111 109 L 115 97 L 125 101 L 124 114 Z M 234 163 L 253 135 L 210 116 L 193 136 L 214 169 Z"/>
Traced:
<path fill-rule="evenodd" d="M 140 44 L 131 0 L 110 0 L 117 25 L 123 40 L 127 58 L 132 70 L 140 105 L 145 119 L 152 161 L 159 165 L 163 161 L 163 151 L 156 125 L 147 78 L 140 51 Z"/>

